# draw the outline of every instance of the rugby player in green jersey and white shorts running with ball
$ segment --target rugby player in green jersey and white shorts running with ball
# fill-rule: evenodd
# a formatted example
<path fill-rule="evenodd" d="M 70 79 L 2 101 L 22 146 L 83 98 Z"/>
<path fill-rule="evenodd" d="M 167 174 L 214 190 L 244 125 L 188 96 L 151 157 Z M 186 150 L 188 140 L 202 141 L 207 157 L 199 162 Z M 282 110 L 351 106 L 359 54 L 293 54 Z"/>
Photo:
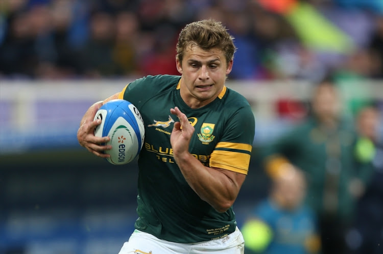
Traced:
<path fill-rule="evenodd" d="M 184 27 L 176 50 L 181 75 L 142 77 L 93 104 L 81 120 L 79 143 L 109 156 L 103 152 L 110 146 L 99 145 L 108 137 L 93 134 L 100 124 L 95 112 L 109 100 L 127 100 L 142 115 L 138 219 L 119 253 L 244 253 L 232 205 L 248 173 L 254 115 L 225 86 L 233 37 L 220 22 L 201 20 Z"/>

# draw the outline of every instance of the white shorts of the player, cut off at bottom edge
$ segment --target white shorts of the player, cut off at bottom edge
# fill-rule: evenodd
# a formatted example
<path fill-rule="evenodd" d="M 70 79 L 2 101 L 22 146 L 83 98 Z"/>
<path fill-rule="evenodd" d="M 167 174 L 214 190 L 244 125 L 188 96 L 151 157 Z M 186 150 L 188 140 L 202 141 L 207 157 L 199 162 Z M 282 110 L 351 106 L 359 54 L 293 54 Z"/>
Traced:
<path fill-rule="evenodd" d="M 243 254 L 244 246 L 245 241 L 238 228 L 224 238 L 200 243 L 168 242 L 135 230 L 118 254 Z"/>

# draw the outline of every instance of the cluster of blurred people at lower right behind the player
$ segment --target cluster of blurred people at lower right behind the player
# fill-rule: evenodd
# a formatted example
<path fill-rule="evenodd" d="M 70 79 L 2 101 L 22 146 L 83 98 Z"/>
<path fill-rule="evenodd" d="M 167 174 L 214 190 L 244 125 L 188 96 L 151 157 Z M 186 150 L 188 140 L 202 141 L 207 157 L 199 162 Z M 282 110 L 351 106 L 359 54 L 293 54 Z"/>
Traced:
<path fill-rule="evenodd" d="M 243 225 L 246 254 L 383 253 L 383 143 L 374 104 L 344 116 L 331 79 L 310 114 L 257 148 L 271 186 Z"/>

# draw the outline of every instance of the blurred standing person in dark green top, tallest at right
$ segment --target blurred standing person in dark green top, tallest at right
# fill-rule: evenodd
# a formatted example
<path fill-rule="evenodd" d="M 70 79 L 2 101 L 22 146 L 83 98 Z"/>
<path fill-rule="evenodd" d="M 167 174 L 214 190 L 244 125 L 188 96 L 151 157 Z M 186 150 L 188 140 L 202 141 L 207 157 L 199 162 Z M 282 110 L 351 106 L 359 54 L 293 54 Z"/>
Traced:
<path fill-rule="evenodd" d="M 371 163 L 354 156 L 356 132 L 341 114 L 341 101 L 331 80 L 315 87 L 312 117 L 260 151 L 266 171 L 276 178 L 288 165 L 307 176 L 306 204 L 319 221 L 323 253 L 347 253 L 345 236 L 355 201 L 372 172 Z"/>

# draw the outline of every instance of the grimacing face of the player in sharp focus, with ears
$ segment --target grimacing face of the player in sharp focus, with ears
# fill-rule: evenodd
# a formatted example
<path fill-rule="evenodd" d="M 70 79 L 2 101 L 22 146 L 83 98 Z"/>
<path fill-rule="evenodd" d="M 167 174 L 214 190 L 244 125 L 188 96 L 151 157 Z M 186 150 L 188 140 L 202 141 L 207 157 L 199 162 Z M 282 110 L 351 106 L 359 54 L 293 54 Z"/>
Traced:
<path fill-rule="evenodd" d="M 212 102 L 221 93 L 233 61 L 226 64 L 222 50 L 187 47 L 177 69 L 182 74 L 180 93 L 185 103 L 199 108 Z"/>

